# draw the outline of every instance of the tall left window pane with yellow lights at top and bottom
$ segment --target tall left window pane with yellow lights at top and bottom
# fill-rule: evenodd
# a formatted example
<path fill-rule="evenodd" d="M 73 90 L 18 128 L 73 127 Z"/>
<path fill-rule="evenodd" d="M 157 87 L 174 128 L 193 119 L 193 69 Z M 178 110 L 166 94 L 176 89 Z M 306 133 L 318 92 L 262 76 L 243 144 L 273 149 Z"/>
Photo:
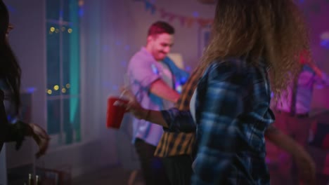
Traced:
<path fill-rule="evenodd" d="M 60 29 L 47 23 L 47 95 L 60 95 Z"/>

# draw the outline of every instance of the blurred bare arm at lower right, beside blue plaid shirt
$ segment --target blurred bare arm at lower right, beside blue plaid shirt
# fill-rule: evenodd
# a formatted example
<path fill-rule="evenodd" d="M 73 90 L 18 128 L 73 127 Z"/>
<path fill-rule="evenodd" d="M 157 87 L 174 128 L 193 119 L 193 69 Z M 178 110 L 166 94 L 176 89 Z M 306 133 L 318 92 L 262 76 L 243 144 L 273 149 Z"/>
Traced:
<path fill-rule="evenodd" d="M 315 184 L 315 163 L 303 146 L 299 145 L 294 139 L 278 130 L 274 125 L 270 125 L 269 128 L 267 128 L 265 131 L 265 137 L 269 142 L 272 142 L 280 149 L 290 153 L 297 163 L 300 179 L 307 184 Z"/>

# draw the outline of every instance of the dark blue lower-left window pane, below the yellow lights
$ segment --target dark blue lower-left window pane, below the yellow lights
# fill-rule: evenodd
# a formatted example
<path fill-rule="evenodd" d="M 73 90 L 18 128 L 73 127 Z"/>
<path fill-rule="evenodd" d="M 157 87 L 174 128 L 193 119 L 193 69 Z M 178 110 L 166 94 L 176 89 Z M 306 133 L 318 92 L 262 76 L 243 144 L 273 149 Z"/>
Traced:
<path fill-rule="evenodd" d="M 60 100 L 47 101 L 47 131 L 49 134 L 60 133 Z"/>

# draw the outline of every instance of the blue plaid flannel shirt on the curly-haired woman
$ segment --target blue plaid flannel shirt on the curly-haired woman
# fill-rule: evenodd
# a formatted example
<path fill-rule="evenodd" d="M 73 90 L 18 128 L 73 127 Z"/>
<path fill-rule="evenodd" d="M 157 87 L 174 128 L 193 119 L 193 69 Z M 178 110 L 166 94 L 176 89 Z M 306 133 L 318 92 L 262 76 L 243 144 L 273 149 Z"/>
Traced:
<path fill-rule="evenodd" d="M 273 123 L 268 67 L 242 59 L 211 64 L 195 100 L 192 184 L 269 184 L 264 131 Z M 189 111 L 162 111 L 176 132 L 195 128 Z M 173 121 L 174 119 L 174 121 Z"/>

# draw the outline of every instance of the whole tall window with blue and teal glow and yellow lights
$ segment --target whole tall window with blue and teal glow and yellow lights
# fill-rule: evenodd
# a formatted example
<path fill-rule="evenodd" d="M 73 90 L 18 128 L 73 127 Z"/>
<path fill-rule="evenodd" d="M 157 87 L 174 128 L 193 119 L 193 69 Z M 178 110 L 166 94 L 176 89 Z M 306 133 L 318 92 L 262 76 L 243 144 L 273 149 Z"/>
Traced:
<path fill-rule="evenodd" d="M 46 0 L 47 130 L 56 144 L 81 140 L 79 13 L 79 0 Z"/>

